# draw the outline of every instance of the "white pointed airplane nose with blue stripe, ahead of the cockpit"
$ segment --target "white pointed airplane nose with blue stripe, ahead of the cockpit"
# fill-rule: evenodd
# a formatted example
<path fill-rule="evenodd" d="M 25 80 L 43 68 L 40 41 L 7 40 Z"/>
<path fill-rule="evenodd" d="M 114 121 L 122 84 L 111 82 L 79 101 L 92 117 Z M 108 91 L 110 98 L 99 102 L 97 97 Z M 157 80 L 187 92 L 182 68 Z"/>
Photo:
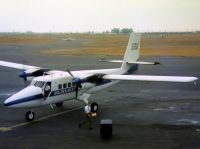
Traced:
<path fill-rule="evenodd" d="M 28 86 L 4 101 L 6 107 L 26 107 L 29 101 L 42 98 L 42 89 Z"/>

